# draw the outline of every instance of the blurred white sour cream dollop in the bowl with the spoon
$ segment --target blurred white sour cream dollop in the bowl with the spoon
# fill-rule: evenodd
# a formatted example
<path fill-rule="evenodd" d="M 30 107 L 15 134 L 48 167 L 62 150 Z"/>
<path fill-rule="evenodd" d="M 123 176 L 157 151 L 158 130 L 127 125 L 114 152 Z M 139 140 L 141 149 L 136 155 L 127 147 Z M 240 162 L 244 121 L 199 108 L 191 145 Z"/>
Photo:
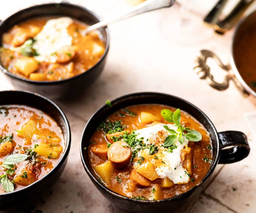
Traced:
<path fill-rule="evenodd" d="M 67 28 L 73 22 L 69 17 L 50 19 L 43 29 L 35 36 L 33 48 L 39 54 L 35 56 L 37 61 L 48 61 L 55 63 L 54 53 L 64 46 L 72 45 L 72 36 L 68 34 Z"/>

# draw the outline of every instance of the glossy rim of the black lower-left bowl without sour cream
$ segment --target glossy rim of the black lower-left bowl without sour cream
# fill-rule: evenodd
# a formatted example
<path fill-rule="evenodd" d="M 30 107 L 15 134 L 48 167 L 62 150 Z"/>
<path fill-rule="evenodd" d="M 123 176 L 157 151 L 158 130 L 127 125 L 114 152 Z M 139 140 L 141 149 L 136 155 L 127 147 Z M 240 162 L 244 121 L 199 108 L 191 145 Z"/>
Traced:
<path fill-rule="evenodd" d="M 29 184 L 28 186 L 25 186 L 21 189 L 18 189 L 18 190 L 14 190 L 13 192 L 5 192 L 5 193 L 2 193 L 0 194 L 0 197 L 1 196 L 7 196 L 7 195 L 10 195 L 10 194 L 13 194 L 13 193 L 18 193 L 20 191 L 23 191 L 23 190 L 26 190 L 26 189 L 29 189 L 31 187 L 33 187 L 34 185 L 36 185 L 38 182 L 42 181 L 44 178 L 46 178 L 47 176 L 51 175 L 52 172 L 54 172 L 56 169 L 58 169 L 62 163 L 65 161 L 65 159 L 67 158 L 68 156 L 68 153 L 69 153 L 69 150 L 70 150 L 70 145 L 71 145 L 71 130 L 70 130 L 70 126 L 69 126 L 69 123 L 68 123 L 68 120 L 64 114 L 64 112 L 60 109 L 60 107 L 55 104 L 53 101 L 51 101 L 50 99 L 38 94 L 38 93 L 34 93 L 34 92 L 30 92 L 30 91 L 26 91 L 26 90 L 4 90 L 4 91 L 0 91 L 0 95 L 2 92 L 18 92 L 18 93 L 29 93 L 29 94 L 32 94 L 32 95 L 35 95 L 41 99 L 43 99 L 43 101 L 47 101 L 49 102 L 51 105 L 53 105 L 57 111 L 60 113 L 61 117 L 63 118 L 64 120 L 64 123 L 65 123 L 65 126 L 67 128 L 67 140 L 65 141 L 66 142 L 66 147 L 65 147 L 65 151 L 63 152 L 62 156 L 60 157 L 59 161 L 57 162 L 57 164 L 51 169 L 51 171 L 49 171 L 46 175 L 44 175 L 43 177 L 41 177 L 40 179 L 38 179 L 37 181 L 35 181 L 34 183 L 31 183 Z M 8 105 L 8 104 L 7 104 Z M 23 104 L 25 105 L 25 104 Z M 27 105 L 29 106 L 29 105 Z M 33 106 L 32 106 L 33 107 Z M 35 108 L 35 107 L 33 107 Z M 48 113 L 44 112 L 45 114 L 48 115 Z M 55 121 L 56 122 L 56 121 Z M 57 122 L 56 122 L 57 123 Z M 58 124 L 59 125 L 59 124 Z"/>

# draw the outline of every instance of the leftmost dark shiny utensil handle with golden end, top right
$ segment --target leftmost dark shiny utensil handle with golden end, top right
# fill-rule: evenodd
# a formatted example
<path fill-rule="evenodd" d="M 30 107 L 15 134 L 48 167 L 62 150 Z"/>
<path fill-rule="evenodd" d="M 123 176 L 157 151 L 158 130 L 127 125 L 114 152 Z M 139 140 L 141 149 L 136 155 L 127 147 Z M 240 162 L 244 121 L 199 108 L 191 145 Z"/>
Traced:
<path fill-rule="evenodd" d="M 228 0 L 219 0 L 213 9 L 204 18 L 204 23 L 209 26 L 216 24 L 227 2 Z"/>

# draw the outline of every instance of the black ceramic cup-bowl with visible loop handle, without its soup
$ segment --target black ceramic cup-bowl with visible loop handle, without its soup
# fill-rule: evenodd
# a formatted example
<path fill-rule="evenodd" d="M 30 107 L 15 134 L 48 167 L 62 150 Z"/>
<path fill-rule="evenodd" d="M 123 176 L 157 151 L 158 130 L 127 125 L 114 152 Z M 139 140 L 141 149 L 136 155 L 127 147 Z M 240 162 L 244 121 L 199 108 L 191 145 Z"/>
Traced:
<path fill-rule="evenodd" d="M 181 98 L 153 92 L 135 93 L 117 98 L 111 101 L 111 104 L 111 108 L 106 105 L 101 107 L 92 115 L 92 117 L 87 122 L 82 134 L 80 154 L 85 171 L 89 175 L 92 183 L 111 203 L 121 209 L 140 213 L 187 212 L 197 200 L 200 193 L 202 193 L 202 191 L 206 187 L 207 182 L 209 181 L 209 178 L 211 177 L 218 163 L 224 164 L 240 161 L 248 156 L 250 152 L 250 147 L 244 133 L 238 131 L 217 132 L 213 123 L 200 109 Z M 213 158 L 208 173 L 203 178 L 203 180 L 201 180 L 201 182 L 197 184 L 197 186 L 193 187 L 192 189 L 181 195 L 168 199 L 156 201 L 135 200 L 111 191 L 102 183 L 100 183 L 93 175 L 92 168 L 90 167 L 88 161 L 87 150 L 84 151 L 83 147 L 88 146 L 90 138 L 95 131 L 98 123 L 121 108 L 139 104 L 165 104 L 168 106 L 180 108 L 181 110 L 184 110 L 190 115 L 194 116 L 208 130 L 212 139 Z M 227 146 L 233 147 L 223 149 Z"/>

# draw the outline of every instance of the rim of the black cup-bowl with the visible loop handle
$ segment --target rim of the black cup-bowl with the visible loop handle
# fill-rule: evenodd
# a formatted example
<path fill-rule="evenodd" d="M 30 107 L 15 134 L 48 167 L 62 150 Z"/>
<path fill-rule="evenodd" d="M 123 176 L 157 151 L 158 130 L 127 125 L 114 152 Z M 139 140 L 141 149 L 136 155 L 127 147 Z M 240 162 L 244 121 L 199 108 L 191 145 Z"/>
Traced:
<path fill-rule="evenodd" d="M 127 94 L 127 95 L 123 95 L 119 98 L 116 98 L 114 100 L 111 101 L 111 104 L 114 104 L 115 102 L 118 102 L 122 99 L 125 99 L 125 98 L 132 98 L 134 96 L 143 96 L 143 95 L 162 95 L 162 96 L 167 96 L 167 97 L 171 97 L 171 98 L 175 98 L 175 99 L 178 99 L 178 100 L 181 100 L 183 102 L 185 102 L 186 104 L 189 104 L 191 107 L 195 108 L 197 111 L 199 111 L 201 113 L 201 115 L 208 121 L 208 123 L 211 125 L 212 129 L 214 130 L 214 133 L 216 135 L 218 135 L 218 132 L 215 128 L 215 126 L 213 125 L 213 123 L 211 122 L 211 120 L 208 118 L 208 116 L 202 111 L 200 110 L 198 107 L 196 107 L 194 104 L 182 99 L 182 98 L 179 98 L 177 96 L 174 96 L 174 95 L 169 95 L 169 94 L 165 94 L 165 93 L 158 93 L 158 92 L 138 92 L 138 93 L 131 93 L 131 94 Z M 136 105 L 136 104 L 134 104 Z M 214 162 L 211 164 L 211 167 L 210 169 L 208 170 L 207 174 L 204 176 L 204 178 L 197 184 L 195 185 L 194 187 L 192 187 L 191 189 L 189 189 L 188 191 L 180 194 L 180 195 L 177 195 L 177 196 L 174 196 L 174 197 L 171 197 L 171 198 L 166 198 L 166 199 L 161 199 L 161 200 L 137 200 L 137 199 L 133 199 L 133 198 L 130 198 L 130 197 L 126 197 L 126 196 L 123 196 L 123 195 L 120 195 L 112 190 L 110 190 L 109 188 L 107 188 L 105 185 L 103 185 L 102 183 L 100 183 L 96 177 L 92 174 L 92 172 L 90 171 L 90 165 L 87 165 L 87 163 L 85 162 L 84 160 L 84 150 L 82 148 L 82 144 L 83 144 L 83 136 L 84 136 L 84 132 L 85 132 L 85 129 L 87 128 L 88 124 L 91 122 L 91 120 L 93 120 L 93 117 L 95 114 L 99 113 L 100 111 L 102 111 L 103 109 L 106 109 L 108 106 L 107 105 L 103 105 L 101 108 L 99 108 L 96 112 L 93 113 L 93 115 L 90 117 L 90 119 L 88 120 L 88 122 L 86 123 L 84 129 L 83 129 L 83 132 L 82 132 L 82 137 L 81 137 L 81 141 L 80 141 L 80 155 L 81 155 L 81 159 L 82 159 L 82 163 L 83 163 L 83 167 L 86 171 L 86 173 L 89 175 L 90 179 L 93 180 L 100 188 L 103 188 L 106 192 L 108 192 L 109 194 L 115 196 L 115 197 L 118 197 L 118 198 L 121 198 L 121 199 L 126 199 L 126 200 L 129 200 L 131 202 L 139 202 L 139 203 L 159 203 L 159 202 L 169 202 L 171 200 L 176 200 L 176 199 L 179 199 L 183 196 L 186 196 L 186 195 L 189 195 L 191 191 L 195 190 L 196 188 L 198 188 L 201 184 L 203 184 L 208 178 L 209 176 L 213 173 L 216 165 L 218 164 L 218 161 L 219 161 L 219 157 L 220 157 L 220 144 L 217 143 L 217 155 L 216 155 L 216 158 L 214 160 Z M 218 139 L 217 139 L 218 140 Z"/>

